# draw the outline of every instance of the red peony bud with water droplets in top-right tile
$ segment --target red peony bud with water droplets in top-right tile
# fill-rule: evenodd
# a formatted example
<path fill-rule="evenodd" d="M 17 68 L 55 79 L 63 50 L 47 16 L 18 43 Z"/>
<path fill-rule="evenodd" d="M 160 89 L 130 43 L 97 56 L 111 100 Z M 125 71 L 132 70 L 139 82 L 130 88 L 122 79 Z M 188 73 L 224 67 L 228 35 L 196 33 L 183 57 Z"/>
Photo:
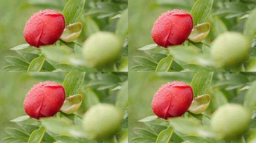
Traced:
<path fill-rule="evenodd" d="M 174 9 L 162 13 L 152 28 L 152 38 L 162 47 L 182 44 L 193 29 L 191 15 L 183 10 Z"/>

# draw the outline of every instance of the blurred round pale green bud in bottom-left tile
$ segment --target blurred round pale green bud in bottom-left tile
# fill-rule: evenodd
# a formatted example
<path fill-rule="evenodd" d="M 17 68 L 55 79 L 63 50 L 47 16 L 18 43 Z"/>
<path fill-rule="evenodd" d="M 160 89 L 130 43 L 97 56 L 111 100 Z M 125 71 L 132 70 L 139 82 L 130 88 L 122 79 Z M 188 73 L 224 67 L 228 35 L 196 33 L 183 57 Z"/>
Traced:
<path fill-rule="evenodd" d="M 89 138 L 107 138 L 118 132 L 121 122 L 122 114 L 117 107 L 97 104 L 85 113 L 83 128 Z"/>

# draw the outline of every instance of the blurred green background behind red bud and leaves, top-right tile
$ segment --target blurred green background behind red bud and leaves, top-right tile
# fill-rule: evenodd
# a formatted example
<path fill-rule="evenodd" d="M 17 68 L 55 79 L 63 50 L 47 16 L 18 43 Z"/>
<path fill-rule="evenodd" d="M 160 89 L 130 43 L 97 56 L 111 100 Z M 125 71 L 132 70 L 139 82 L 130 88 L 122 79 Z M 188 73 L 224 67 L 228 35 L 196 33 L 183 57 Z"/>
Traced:
<path fill-rule="evenodd" d="M 195 1 L 129 0 L 129 68 L 136 65 L 132 60 L 133 56 L 147 57 L 147 54 L 137 49 L 154 43 L 151 37 L 151 29 L 161 13 L 173 9 L 182 9 L 190 13 Z M 214 0 L 211 13 L 206 21 L 211 25 L 210 33 L 203 42 L 211 45 L 216 36 L 225 31 L 242 32 L 246 15 L 250 10 L 255 9 L 255 6 L 256 0 Z M 161 51 L 162 48 L 153 50 Z"/>

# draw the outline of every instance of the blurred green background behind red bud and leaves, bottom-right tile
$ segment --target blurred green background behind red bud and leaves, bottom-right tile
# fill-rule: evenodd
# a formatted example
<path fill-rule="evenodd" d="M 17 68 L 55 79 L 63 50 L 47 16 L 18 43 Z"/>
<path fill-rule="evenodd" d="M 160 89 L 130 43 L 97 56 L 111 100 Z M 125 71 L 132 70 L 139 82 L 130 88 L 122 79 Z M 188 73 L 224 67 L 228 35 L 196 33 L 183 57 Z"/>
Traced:
<path fill-rule="evenodd" d="M 154 115 L 151 101 L 161 85 L 174 80 L 191 84 L 195 74 L 196 72 L 129 72 L 129 139 L 136 137 L 132 128 L 149 129 L 143 122 L 138 122 L 138 120 Z M 204 114 L 211 117 L 211 114 L 219 106 L 228 102 L 243 104 L 244 95 L 255 79 L 255 72 L 214 72 L 211 85 L 206 92 L 211 96 L 210 105 Z M 156 120 L 156 122 L 162 123 L 160 119 Z"/>

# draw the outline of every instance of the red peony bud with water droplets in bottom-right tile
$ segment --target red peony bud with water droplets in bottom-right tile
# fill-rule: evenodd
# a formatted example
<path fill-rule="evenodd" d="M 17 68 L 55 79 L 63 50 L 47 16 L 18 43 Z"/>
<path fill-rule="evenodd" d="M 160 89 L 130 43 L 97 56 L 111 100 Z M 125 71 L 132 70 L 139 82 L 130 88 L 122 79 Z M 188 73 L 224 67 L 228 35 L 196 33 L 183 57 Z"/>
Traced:
<path fill-rule="evenodd" d="M 153 112 L 160 118 L 183 115 L 193 101 L 191 86 L 183 82 L 168 82 L 159 88 L 152 100 Z"/>

